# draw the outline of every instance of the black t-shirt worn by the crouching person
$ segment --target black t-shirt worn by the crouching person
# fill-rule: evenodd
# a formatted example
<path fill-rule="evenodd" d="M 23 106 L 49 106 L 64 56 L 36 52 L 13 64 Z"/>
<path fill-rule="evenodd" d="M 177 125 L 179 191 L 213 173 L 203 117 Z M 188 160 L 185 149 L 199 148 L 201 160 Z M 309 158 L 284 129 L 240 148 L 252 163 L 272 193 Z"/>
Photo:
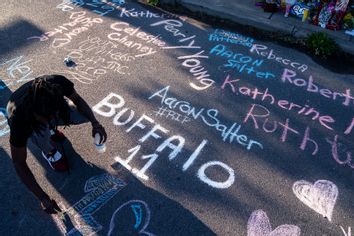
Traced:
<path fill-rule="evenodd" d="M 44 75 L 39 78 L 46 78 L 50 83 L 57 84 L 66 97 L 74 92 L 74 84 L 62 75 Z M 29 94 L 32 81 L 29 81 L 19 87 L 9 98 L 7 104 L 8 123 L 10 126 L 10 143 L 14 147 L 24 147 L 27 139 L 33 132 L 33 114 L 25 112 L 25 98 Z M 28 117 L 31 116 L 31 117 Z"/>

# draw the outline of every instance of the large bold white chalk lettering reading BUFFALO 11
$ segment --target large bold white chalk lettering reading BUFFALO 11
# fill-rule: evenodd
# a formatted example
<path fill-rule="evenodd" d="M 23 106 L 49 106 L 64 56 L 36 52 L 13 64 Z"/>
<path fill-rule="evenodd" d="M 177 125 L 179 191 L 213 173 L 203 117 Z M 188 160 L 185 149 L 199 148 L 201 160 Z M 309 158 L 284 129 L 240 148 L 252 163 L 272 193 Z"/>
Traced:
<path fill-rule="evenodd" d="M 113 117 L 113 124 L 117 126 L 123 126 L 130 123 L 133 120 L 135 111 L 131 110 L 128 107 L 123 108 L 125 105 L 125 100 L 122 96 L 110 93 L 104 99 L 102 99 L 99 103 L 93 106 L 92 110 L 103 116 L 103 117 Z M 121 111 L 117 111 L 117 109 L 123 108 Z M 130 110 L 130 114 L 128 118 L 125 120 L 119 120 L 126 112 Z M 163 126 L 156 124 L 156 122 L 149 116 L 143 114 L 141 115 L 133 124 L 131 124 L 127 129 L 126 133 L 132 131 L 132 129 L 142 129 L 144 130 L 147 126 L 153 125 L 150 131 L 147 131 L 144 136 L 139 139 L 139 144 L 128 150 L 128 153 L 131 153 L 126 159 L 116 156 L 114 160 L 119 162 L 126 169 L 131 171 L 137 177 L 149 180 L 149 176 L 145 174 L 145 172 L 152 166 L 153 163 L 157 161 L 159 158 L 160 152 L 165 150 L 166 148 L 171 149 L 171 153 L 168 155 L 168 159 L 173 161 L 174 159 L 178 159 L 178 155 L 183 151 L 185 146 L 186 139 L 180 135 L 172 135 L 169 138 L 165 139 L 155 150 L 154 153 L 148 153 L 145 155 L 141 155 L 141 160 L 148 160 L 145 165 L 141 169 L 137 169 L 132 167 L 129 163 L 133 160 L 133 158 L 137 155 L 137 153 L 141 149 L 141 144 L 146 140 L 154 138 L 161 139 L 161 134 L 168 134 L 170 131 Z M 177 144 L 176 144 L 177 142 Z M 195 162 L 195 160 L 199 157 L 201 151 L 205 148 L 208 141 L 203 139 L 198 147 L 195 148 L 193 153 L 189 156 L 187 161 L 182 165 L 182 171 L 187 171 L 190 166 Z M 161 158 L 161 157 L 160 157 Z M 208 177 L 205 174 L 205 170 L 207 168 L 211 168 L 213 166 L 218 166 L 219 169 L 223 169 L 223 172 L 227 173 L 226 181 L 215 181 L 212 180 L 211 177 Z M 197 177 L 205 184 L 213 187 L 213 188 L 229 188 L 235 181 L 234 170 L 228 166 L 227 164 L 220 161 L 209 161 L 204 163 L 198 170 Z"/>

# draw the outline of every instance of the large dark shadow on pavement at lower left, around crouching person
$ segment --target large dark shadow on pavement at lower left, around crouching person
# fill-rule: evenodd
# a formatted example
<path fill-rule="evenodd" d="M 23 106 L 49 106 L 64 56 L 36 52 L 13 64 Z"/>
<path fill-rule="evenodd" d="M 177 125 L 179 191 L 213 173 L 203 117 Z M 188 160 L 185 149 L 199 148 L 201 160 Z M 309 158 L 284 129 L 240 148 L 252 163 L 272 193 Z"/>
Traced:
<path fill-rule="evenodd" d="M 144 186 L 129 173 L 124 173 L 125 170 L 116 170 L 116 174 L 111 175 L 85 162 L 68 140 L 63 146 L 72 167 L 70 173 L 51 170 L 40 156 L 40 151 L 31 144 L 29 149 L 38 160 L 33 162 L 29 158 L 28 163 L 32 170 L 38 168 L 38 163 L 41 164 L 44 175 L 36 171 L 37 181 L 53 199 L 62 199 L 58 203 L 67 213 L 62 224 L 67 227 L 67 232 L 74 232 L 75 227 L 81 232 L 92 231 L 98 235 L 106 235 L 108 231 L 111 235 L 138 235 L 143 232 L 156 235 L 191 235 L 193 232 L 215 235 L 182 205 Z M 1 221 L 0 226 L 4 224 L 0 227 L 1 234 L 23 235 L 26 232 L 33 235 L 38 234 L 39 229 L 51 235 L 64 233 L 57 216 L 53 221 L 48 220 L 50 216 L 40 210 L 39 202 L 18 179 L 11 158 L 3 148 L 0 148 L 0 156 L 0 186 L 8 192 L 2 197 L 2 214 L 7 215 L 8 220 Z M 112 179 L 116 185 L 110 186 Z M 112 191 L 116 192 L 112 195 Z M 154 211 L 150 210 L 150 203 L 154 204 Z"/>

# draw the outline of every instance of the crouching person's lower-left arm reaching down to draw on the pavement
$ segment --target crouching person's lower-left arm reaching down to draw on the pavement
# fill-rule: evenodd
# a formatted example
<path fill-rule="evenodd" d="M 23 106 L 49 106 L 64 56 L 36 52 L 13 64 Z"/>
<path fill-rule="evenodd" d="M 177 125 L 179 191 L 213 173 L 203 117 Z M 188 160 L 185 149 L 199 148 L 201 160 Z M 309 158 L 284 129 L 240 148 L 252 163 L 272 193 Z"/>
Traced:
<path fill-rule="evenodd" d="M 56 202 L 50 199 L 39 186 L 31 170 L 28 168 L 26 163 L 27 148 L 14 147 L 11 145 L 11 157 L 17 175 L 26 187 L 39 199 L 43 210 L 50 214 L 56 213 L 56 211 L 61 211 Z"/>

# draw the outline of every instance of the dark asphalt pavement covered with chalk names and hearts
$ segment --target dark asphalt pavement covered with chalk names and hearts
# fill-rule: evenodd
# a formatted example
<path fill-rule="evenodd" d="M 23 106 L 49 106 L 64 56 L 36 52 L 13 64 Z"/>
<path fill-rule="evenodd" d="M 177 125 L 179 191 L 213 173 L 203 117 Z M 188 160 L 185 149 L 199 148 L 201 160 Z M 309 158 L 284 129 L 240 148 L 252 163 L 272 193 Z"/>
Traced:
<path fill-rule="evenodd" d="M 273 42 L 136 1 L 0 3 L 0 235 L 351 235 L 354 76 Z M 70 57 L 75 66 L 63 61 Z M 62 129 L 70 171 L 12 165 L 11 93 L 74 84 L 106 128 Z"/>

